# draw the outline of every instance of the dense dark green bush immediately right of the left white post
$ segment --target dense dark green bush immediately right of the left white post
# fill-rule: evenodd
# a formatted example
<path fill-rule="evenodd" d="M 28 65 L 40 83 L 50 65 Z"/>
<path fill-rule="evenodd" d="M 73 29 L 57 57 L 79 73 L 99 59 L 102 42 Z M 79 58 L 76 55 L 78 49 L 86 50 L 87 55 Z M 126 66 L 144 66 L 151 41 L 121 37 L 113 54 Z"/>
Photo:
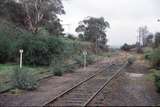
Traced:
<path fill-rule="evenodd" d="M 19 48 L 24 50 L 24 63 L 50 65 L 52 56 L 63 54 L 63 42 L 54 37 L 23 37 Z"/>

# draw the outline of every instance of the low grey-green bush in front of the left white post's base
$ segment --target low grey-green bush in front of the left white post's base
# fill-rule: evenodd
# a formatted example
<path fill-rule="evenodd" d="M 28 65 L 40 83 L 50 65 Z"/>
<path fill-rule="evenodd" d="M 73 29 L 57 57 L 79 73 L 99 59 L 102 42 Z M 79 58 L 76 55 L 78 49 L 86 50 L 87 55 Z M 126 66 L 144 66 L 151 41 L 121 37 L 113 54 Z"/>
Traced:
<path fill-rule="evenodd" d="M 38 88 L 36 78 L 28 71 L 28 69 L 16 68 L 12 74 L 13 85 L 23 90 L 35 90 Z"/>

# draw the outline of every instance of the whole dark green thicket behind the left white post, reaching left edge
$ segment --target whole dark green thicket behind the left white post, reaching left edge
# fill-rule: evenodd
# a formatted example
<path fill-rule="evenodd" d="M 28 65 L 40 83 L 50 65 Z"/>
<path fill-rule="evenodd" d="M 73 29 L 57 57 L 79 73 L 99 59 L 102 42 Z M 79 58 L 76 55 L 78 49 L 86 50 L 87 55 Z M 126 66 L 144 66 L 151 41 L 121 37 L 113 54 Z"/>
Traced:
<path fill-rule="evenodd" d="M 52 56 L 64 52 L 63 41 L 49 36 L 47 31 L 33 34 L 5 21 L 0 28 L 0 63 L 17 62 L 19 49 L 24 50 L 23 61 L 27 65 L 49 65 Z"/>

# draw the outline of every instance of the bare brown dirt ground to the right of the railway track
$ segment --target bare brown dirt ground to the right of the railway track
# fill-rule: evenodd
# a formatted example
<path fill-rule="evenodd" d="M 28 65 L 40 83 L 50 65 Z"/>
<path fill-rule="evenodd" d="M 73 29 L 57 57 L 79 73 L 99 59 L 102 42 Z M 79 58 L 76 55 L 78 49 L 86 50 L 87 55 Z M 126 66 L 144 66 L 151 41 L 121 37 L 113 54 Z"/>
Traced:
<path fill-rule="evenodd" d="M 137 61 L 106 87 L 91 105 L 102 106 L 157 106 L 160 94 L 154 81 L 147 80 L 147 65 Z"/>

